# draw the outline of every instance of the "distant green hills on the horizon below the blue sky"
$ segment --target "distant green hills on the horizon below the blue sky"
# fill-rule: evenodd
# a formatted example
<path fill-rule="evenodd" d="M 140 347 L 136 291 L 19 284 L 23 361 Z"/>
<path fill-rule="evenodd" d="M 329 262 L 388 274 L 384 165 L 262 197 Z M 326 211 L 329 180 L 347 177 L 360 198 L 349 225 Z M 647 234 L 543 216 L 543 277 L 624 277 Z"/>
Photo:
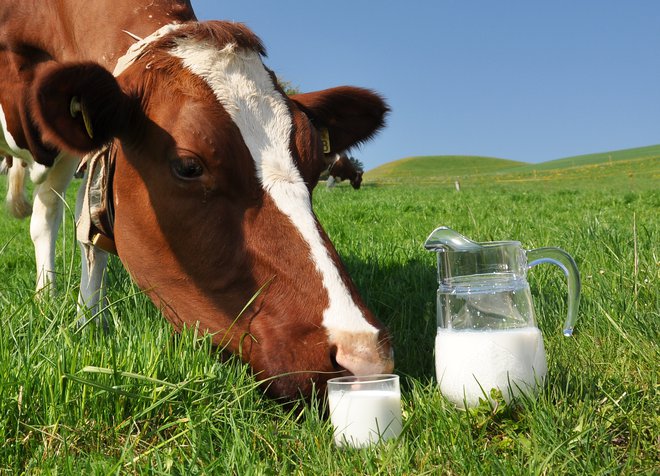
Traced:
<path fill-rule="evenodd" d="M 539 164 L 492 157 L 409 157 L 365 173 L 365 183 L 527 183 L 532 186 L 658 188 L 660 145 L 580 155 Z"/>

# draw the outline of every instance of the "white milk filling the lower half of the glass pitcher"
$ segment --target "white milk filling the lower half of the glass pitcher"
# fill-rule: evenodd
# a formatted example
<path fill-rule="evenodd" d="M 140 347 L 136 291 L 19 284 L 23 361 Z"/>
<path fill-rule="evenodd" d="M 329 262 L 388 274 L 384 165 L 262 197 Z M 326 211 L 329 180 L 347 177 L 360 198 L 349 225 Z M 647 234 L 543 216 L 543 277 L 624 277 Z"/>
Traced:
<path fill-rule="evenodd" d="M 543 336 L 536 327 L 506 330 L 438 328 L 435 370 L 440 391 L 458 407 L 479 404 L 492 388 L 509 402 L 524 391 L 533 395 L 548 371 Z"/>

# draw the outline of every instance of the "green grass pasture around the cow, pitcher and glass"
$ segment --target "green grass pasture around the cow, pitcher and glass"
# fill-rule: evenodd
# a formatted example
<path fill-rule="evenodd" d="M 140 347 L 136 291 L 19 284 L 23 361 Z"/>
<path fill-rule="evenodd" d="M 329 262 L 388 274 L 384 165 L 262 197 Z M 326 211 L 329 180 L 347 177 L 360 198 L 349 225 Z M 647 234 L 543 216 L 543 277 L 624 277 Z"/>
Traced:
<path fill-rule="evenodd" d="M 70 212 L 61 285 L 46 300 L 32 289 L 28 223 L 3 213 L 0 474 L 658 474 L 660 191 L 647 169 L 626 166 L 636 180 L 592 169 L 580 180 L 465 179 L 460 193 L 451 180 L 368 175 L 359 191 L 317 188 L 320 220 L 395 339 L 404 430 L 364 450 L 333 447 L 322 403 L 283 408 L 207 337 L 173 335 L 116 260 L 110 329 L 77 328 Z M 3 197 L 5 187 L 2 177 Z M 572 338 L 561 335 L 561 271 L 529 274 L 548 354 L 538 399 L 464 412 L 439 394 L 435 258 L 422 245 L 440 225 L 574 256 L 583 294 Z"/>

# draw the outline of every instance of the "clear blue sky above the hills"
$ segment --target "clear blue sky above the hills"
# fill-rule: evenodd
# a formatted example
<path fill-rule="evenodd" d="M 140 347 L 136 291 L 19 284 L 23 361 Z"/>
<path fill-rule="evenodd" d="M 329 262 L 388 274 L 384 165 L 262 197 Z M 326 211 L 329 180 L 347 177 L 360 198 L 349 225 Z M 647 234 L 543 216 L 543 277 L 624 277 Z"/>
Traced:
<path fill-rule="evenodd" d="M 417 155 L 542 162 L 660 143 L 660 0 L 192 0 L 246 23 L 301 91 L 368 87 L 365 168 Z"/>

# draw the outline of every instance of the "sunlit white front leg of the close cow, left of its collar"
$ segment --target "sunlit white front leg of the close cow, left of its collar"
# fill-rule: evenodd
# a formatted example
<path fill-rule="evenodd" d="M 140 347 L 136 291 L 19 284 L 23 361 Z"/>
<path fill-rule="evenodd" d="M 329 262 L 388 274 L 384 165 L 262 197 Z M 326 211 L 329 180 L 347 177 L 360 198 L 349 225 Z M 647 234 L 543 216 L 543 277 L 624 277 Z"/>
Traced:
<path fill-rule="evenodd" d="M 42 167 L 33 164 L 37 169 Z M 71 182 L 78 160 L 60 156 L 47 174 L 39 174 L 41 183 L 36 185 L 30 236 L 34 244 L 37 264 L 37 291 L 55 288 L 55 241 L 62 223 L 63 197 Z"/>

